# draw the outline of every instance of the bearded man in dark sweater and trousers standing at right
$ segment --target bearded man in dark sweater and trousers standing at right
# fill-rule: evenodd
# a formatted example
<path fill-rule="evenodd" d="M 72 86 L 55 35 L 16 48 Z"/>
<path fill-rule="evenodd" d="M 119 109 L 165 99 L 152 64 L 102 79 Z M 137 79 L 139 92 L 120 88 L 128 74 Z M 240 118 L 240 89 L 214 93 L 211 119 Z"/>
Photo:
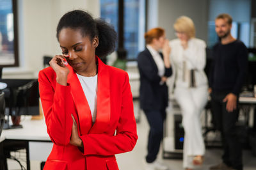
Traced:
<path fill-rule="evenodd" d="M 248 61 L 244 43 L 231 34 L 232 18 L 228 14 L 216 17 L 215 31 L 220 42 L 213 48 L 213 62 L 209 78 L 209 92 L 214 125 L 221 132 L 223 162 L 217 169 L 243 169 L 242 149 L 237 140 L 236 121 L 238 118 L 238 98 L 246 75 Z"/>

